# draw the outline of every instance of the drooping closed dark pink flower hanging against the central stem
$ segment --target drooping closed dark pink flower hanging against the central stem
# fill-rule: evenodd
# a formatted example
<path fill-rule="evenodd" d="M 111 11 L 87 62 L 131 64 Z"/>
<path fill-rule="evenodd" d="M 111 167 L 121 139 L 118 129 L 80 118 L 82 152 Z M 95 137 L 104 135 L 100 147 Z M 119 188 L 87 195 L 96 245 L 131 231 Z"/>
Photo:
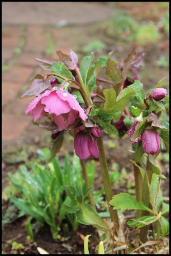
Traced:
<path fill-rule="evenodd" d="M 91 156 L 98 158 L 99 151 L 97 141 L 92 140 L 91 136 L 84 134 L 84 131 L 79 131 L 74 138 L 75 154 L 80 159 L 87 159 Z"/>

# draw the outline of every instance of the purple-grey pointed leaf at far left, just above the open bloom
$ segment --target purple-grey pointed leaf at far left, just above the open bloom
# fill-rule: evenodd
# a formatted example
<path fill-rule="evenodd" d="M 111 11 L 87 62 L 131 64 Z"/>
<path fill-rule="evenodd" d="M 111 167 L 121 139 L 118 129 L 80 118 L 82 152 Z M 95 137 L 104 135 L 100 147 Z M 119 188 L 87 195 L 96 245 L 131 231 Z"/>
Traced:
<path fill-rule="evenodd" d="M 50 80 L 46 79 L 46 81 L 44 81 L 44 77 L 44 75 L 40 74 L 35 75 L 34 79 L 31 81 L 31 84 L 27 87 L 20 98 L 27 98 L 34 95 L 39 96 L 40 93 L 48 89 L 50 86 Z"/>

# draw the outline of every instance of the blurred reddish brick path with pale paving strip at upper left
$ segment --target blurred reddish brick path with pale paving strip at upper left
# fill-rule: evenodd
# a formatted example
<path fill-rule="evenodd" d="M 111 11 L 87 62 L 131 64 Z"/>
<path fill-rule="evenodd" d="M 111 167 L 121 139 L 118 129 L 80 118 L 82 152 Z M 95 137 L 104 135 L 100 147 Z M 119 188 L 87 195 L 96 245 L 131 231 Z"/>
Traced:
<path fill-rule="evenodd" d="M 68 53 L 69 48 L 80 42 L 86 44 L 88 38 L 82 25 L 111 15 L 110 7 L 99 3 L 79 2 L 76 5 L 74 2 L 73 9 L 70 2 L 59 2 L 58 12 L 54 4 L 57 3 L 44 2 L 43 6 L 39 2 L 2 4 L 2 141 L 15 141 L 32 125 L 32 115 L 26 116 L 25 110 L 34 97 L 20 99 L 20 95 L 35 74 L 47 73 L 34 58 L 55 57 L 57 49 Z M 67 15 L 71 7 L 72 15 Z M 94 17 L 93 10 L 96 10 Z M 78 14 L 79 19 L 75 19 Z M 64 17 L 68 19 L 67 24 L 70 22 L 77 26 L 54 26 L 56 22 L 65 20 Z M 54 52 L 46 56 L 50 43 Z"/>

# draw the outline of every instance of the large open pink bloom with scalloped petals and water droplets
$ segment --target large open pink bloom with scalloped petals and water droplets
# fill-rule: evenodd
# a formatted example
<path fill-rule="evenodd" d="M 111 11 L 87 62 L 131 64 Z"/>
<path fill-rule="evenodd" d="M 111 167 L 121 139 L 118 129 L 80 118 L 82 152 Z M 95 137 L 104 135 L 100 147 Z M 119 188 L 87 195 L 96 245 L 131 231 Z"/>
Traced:
<path fill-rule="evenodd" d="M 54 87 L 36 97 L 27 107 L 26 115 L 32 111 L 34 122 L 46 113 L 53 114 L 58 131 L 73 124 L 77 116 L 85 122 L 86 114 L 72 94 Z"/>

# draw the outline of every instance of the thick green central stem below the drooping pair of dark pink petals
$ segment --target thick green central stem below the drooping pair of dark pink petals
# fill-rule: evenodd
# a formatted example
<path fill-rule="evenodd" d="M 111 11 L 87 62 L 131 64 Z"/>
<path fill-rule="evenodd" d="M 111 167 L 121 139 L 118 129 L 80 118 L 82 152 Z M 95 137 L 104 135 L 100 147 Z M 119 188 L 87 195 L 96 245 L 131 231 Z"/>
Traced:
<path fill-rule="evenodd" d="M 112 191 L 112 186 L 110 182 L 110 177 L 108 175 L 108 167 L 107 167 L 107 161 L 106 161 L 106 155 L 105 155 L 105 149 L 103 146 L 102 137 L 97 139 L 97 145 L 99 150 L 99 162 L 101 165 L 103 185 L 105 188 L 107 203 L 109 204 L 110 200 L 113 197 L 113 191 Z M 111 221 L 113 222 L 113 220 L 115 219 L 116 230 L 118 230 L 119 225 L 118 225 L 117 211 L 113 210 L 112 207 L 109 208 L 109 211 L 110 211 Z"/>

